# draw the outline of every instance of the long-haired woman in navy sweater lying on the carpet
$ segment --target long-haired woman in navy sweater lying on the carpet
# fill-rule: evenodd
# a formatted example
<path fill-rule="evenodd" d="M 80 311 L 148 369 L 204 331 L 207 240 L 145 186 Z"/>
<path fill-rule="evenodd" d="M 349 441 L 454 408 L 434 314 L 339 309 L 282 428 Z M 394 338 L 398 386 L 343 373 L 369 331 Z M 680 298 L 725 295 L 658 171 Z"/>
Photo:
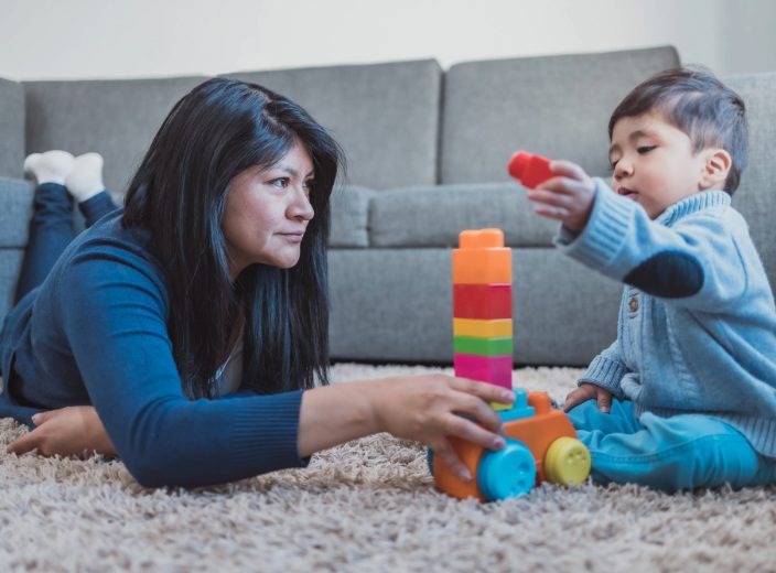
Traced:
<path fill-rule="evenodd" d="M 386 431 L 471 477 L 449 436 L 500 447 L 486 402 L 508 392 L 448 376 L 326 385 L 340 163 L 326 131 L 268 89 L 211 79 L 184 96 L 123 210 L 106 207 L 42 284 L 20 279 L 31 290 L 3 322 L 0 415 L 37 426 L 10 450 L 115 453 L 144 486 L 202 486 Z M 33 235 L 69 228 L 67 207 L 51 207 L 66 203 L 58 180 L 39 179 L 28 259 L 45 250 Z"/>

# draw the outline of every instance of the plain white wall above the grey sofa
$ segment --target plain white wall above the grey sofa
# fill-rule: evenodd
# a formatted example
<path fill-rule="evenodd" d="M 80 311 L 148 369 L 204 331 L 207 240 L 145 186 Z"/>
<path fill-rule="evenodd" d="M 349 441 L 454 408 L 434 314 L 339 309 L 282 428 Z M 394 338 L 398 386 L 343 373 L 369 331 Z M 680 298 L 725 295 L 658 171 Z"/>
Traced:
<path fill-rule="evenodd" d="M 217 74 L 673 44 L 776 71 L 772 0 L 0 0 L 0 77 Z"/>

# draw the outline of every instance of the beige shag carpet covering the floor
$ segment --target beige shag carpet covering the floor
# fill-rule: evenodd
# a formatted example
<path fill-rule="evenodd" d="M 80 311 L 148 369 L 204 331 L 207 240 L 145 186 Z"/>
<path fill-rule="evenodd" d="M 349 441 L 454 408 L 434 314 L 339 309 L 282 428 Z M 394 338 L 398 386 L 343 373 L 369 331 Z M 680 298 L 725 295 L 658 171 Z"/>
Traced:
<path fill-rule="evenodd" d="M 333 377 L 425 370 L 343 364 Z M 579 374 L 520 369 L 515 383 L 562 400 Z M 0 421 L 3 572 L 776 571 L 774 487 L 543 485 L 481 505 L 434 491 L 424 451 L 380 434 L 304 471 L 149 490 L 120 462 L 6 454 L 24 431 Z"/>

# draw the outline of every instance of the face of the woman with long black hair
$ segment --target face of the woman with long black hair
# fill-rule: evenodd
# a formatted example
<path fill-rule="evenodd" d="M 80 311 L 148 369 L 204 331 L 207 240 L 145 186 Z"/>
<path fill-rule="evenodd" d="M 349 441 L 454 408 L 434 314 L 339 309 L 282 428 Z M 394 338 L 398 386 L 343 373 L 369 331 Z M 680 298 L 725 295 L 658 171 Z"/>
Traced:
<path fill-rule="evenodd" d="M 229 184 L 222 230 L 233 280 L 257 262 L 288 269 L 299 261 L 308 224 L 313 162 L 297 142 L 267 169 L 249 167 Z"/>

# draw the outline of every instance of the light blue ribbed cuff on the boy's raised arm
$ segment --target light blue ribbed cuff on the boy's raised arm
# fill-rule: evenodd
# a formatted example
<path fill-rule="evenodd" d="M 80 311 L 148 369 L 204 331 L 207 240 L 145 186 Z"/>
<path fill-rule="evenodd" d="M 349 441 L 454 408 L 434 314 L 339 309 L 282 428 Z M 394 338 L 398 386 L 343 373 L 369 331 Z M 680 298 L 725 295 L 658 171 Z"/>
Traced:
<path fill-rule="evenodd" d="M 635 208 L 636 203 L 618 196 L 596 177 L 595 202 L 588 225 L 571 241 L 569 235 L 556 236 L 554 245 L 583 264 L 603 270 L 619 252 L 633 223 Z"/>

